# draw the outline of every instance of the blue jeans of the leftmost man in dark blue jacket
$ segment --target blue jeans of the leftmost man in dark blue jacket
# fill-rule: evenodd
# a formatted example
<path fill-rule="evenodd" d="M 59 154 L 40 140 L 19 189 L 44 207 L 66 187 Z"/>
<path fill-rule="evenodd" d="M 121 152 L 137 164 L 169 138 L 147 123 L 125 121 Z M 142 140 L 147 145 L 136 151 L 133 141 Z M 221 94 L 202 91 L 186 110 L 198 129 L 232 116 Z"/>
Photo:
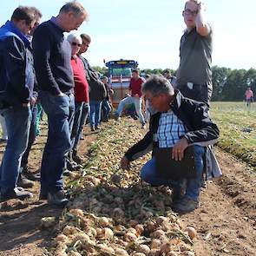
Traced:
<path fill-rule="evenodd" d="M 0 167 L 1 192 L 16 187 L 21 160 L 28 145 L 31 111 L 30 108 L 8 108 L 1 110 L 7 128 L 8 141 Z"/>

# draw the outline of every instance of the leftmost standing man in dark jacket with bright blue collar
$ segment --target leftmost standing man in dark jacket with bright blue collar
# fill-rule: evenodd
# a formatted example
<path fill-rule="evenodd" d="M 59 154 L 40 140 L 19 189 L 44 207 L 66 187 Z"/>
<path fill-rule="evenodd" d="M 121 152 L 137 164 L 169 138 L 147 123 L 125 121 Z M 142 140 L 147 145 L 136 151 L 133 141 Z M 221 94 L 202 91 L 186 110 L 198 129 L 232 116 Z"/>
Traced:
<path fill-rule="evenodd" d="M 34 74 L 30 41 L 25 35 L 34 24 L 34 11 L 19 6 L 0 29 L 0 111 L 8 132 L 0 169 L 1 200 L 32 196 L 18 189 L 16 181 L 30 129 Z"/>

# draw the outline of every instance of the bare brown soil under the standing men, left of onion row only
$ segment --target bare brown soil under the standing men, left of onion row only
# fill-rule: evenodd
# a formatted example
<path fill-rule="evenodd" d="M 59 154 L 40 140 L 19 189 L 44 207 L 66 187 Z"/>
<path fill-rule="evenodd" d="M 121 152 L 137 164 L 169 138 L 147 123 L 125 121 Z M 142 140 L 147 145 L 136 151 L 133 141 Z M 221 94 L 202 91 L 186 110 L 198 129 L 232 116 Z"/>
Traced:
<path fill-rule="evenodd" d="M 84 141 L 81 141 L 79 152 L 86 157 L 91 141 L 96 138 L 96 133 L 91 133 L 89 128 L 84 131 Z M 46 122 L 43 122 L 41 135 L 36 140 L 30 153 L 30 168 L 34 173 L 40 167 L 44 143 L 47 139 Z M 5 145 L 1 145 L 2 157 Z M 34 194 L 31 200 L 9 200 L 0 204 L 0 255 L 1 256 L 26 256 L 48 255 L 44 247 L 51 245 L 51 238 L 56 235 L 54 230 L 42 230 L 40 222 L 43 217 L 62 215 L 62 209 L 49 207 L 43 201 L 38 201 L 39 182 L 30 190 Z"/>

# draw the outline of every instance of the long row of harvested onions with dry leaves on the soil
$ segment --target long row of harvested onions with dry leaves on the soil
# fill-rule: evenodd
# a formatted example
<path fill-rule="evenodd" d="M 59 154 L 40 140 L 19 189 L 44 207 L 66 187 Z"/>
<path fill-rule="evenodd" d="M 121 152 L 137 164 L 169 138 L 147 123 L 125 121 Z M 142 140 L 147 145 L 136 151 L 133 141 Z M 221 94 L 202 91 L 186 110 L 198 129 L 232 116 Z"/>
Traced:
<path fill-rule="evenodd" d="M 143 136 L 136 125 L 110 121 L 92 145 L 82 175 L 67 184 L 72 201 L 59 224 L 56 252 L 142 256 L 193 251 L 191 228 L 182 230 L 171 211 L 170 189 L 140 180 L 150 155 L 133 162 L 128 172 L 120 169 L 124 152 Z"/>

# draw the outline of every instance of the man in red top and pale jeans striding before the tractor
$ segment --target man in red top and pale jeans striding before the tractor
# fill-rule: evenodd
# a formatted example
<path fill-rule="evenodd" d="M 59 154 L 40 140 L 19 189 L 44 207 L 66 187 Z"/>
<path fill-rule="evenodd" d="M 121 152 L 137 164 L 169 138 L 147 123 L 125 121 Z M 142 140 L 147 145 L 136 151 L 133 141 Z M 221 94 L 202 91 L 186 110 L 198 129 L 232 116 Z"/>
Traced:
<path fill-rule="evenodd" d="M 118 108 L 115 112 L 115 119 L 121 116 L 122 109 L 129 104 L 135 104 L 135 109 L 137 115 L 139 115 L 139 119 L 141 121 L 142 128 L 145 128 L 145 120 L 144 116 L 142 115 L 141 106 L 142 106 L 142 93 L 141 87 L 145 81 L 141 78 L 138 69 L 134 69 L 132 72 L 132 78 L 130 81 L 129 89 L 131 91 L 131 95 L 124 98 L 119 102 Z"/>

